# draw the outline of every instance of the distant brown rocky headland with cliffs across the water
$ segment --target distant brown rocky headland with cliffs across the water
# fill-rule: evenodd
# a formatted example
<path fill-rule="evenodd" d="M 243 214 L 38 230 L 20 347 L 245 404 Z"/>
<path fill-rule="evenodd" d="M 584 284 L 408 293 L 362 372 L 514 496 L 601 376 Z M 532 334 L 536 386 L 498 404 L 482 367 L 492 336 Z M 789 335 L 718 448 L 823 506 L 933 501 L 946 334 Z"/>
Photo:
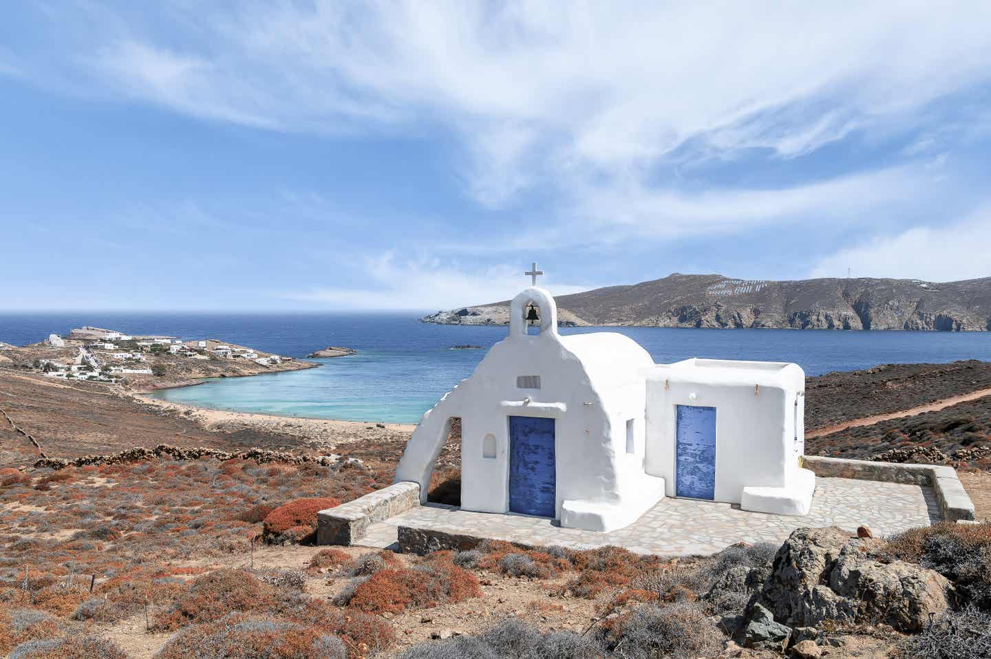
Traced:
<path fill-rule="evenodd" d="M 991 330 L 991 277 L 797 281 L 670 275 L 557 297 L 561 325 L 639 327 Z M 504 325 L 506 301 L 438 311 L 446 325 Z"/>

